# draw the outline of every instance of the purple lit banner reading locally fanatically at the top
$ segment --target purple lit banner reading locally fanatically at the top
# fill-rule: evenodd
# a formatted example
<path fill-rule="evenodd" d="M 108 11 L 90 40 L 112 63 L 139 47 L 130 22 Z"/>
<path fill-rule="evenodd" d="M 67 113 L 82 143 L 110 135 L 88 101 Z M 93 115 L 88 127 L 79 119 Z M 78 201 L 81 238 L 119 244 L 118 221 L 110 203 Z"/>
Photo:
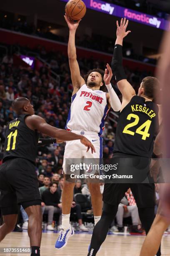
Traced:
<path fill-rule="evenodd" d="M 61 0 L 63 2 L 67 2 L 67 0 Z M 163 30 L 168 29 L 168 21 L 165 19 L 157 18 L 152 15 L 148 15 L 145 13 L 140 13 L 135 10 L 131 10 L 128 8 L 120 7 L 118 5 L 106 3 L 100 0 L 83 0 L 86 7 L 91 10 L 96 10 L 98 12 L 107 13 L 110 15 L 114 15 L 120 18 L 127 18 L 128 20 L 133 20 L 135 22 L 152 26 L 154 28 L 159 28 Z M 170 26 L 170 25 L 169 25 Z"/>

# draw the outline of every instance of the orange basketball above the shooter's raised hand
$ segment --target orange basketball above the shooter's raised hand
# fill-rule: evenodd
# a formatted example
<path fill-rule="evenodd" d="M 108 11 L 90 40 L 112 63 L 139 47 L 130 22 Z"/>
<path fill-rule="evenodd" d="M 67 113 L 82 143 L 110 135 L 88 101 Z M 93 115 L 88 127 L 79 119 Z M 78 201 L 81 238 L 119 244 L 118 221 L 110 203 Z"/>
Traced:
<path fill-rule="evenodd" d="M 65 5 L 65 13 L 72 20 L 80 20 L 86 13 L 86 6 L 82 0 L 70 0 Z"/>

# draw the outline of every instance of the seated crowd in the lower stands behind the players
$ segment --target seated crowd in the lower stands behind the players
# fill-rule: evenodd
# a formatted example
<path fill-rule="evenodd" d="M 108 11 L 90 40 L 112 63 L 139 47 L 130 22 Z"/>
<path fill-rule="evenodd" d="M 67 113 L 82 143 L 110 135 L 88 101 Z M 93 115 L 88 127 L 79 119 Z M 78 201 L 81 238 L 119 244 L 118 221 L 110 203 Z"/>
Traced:
<path fill-rule="evenodd" d="M 26 49 L 23 49 L 26 51 Z M 35 49 L 43 59 L 50 63 L 50 68 L 43 66 L 39 71 L 30 67 L 15 67 L 13 65 L 13 56 L 2 56 L 0 64 L 0 159 L 3 155 L 4 130 L 7 123 L 13 120 L 16 115 L 11 108 L 12 101 L 20 96 L 27 97 L 34 105 L 35 113 L 45 118 L 47 123 L 57 128 L 65 128 L 68 111 L 71 105 L 72 83 L 67 58 L 59 52 L 46 52 L 45 49 L 37 46 Z M 1 56 L 1 55 L 0 55 Z M 81 74 L 86 74 L 87 70 L 92 68 L 104 69 L 105 63 L 94 59 L 78 59 Z M 50 78 L 50 69 L 60 75 L 60 84 Z M 141 79 L 145 77 L 145 72 L 130 71 L 125 68 L 129 82 L 135 90 L 138 89 Z M 113 87 L 121 99 L 120 92 L 117 89 L 115 81 L 112 80 Z M 105 122 L 105 130 L 103 133 L 103 157 L 111 158 L 113 145 L 115 141 L 116 123 L 110 121 L 109 118 Z M 45 138 L 45 135 L 41 134 Z M 36 172 L 40 192 L 42 194 L 42 212 L 48 214 L 47 229 L 54 230 L 53 215 L 57 213 L 58 225 L 61 222 L 61 193 L 63 187 L 62 163 L 65 143 L 54 143 L 49 146 L 38 146 L 37 149 L 37 167 Z M 103 184 L 100 184 L 101 193 L 103 192 Z M 75 195 L 84 197 L 86 211 L 91 210 L 90 192 L 88 185 L 81 184 L 77 181 L 74 189 Z M 131 196 L 125 195 L 126 205 L 131 206 Z M 76 213 L 79 230 L 87 231 L 82 223 L 82 206 L 77 202 L 78 197 L 75 196 L 72 202 L 72 213 Z M 134 205 L 134 201 L 132 206 Z M 123 207 L 124 209 L 125 207 Z M 127 206 L 128 208 L 128 206 Z M 133 208 L 133 209 L 131 209 Z M 134 210 L 135 208 L 135 210 Z M 130 207 L 130 211 L 136 212 L 136 207 Z M 23 228 L 28 227 L 28 216 L 21 208 L 23 216 Z M 125 217 L 122 214 L 121 218 Z M 137 225 L 137 217 L 134 225 Z M 119 222 L 120 228 L 122 222 Z"/>

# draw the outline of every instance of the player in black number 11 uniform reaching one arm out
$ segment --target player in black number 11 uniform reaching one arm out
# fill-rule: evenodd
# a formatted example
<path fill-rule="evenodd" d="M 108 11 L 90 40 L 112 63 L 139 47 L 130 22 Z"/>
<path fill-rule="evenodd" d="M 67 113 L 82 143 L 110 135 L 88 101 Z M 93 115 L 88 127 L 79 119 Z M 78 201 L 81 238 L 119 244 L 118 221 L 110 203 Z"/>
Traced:
<path fill-rule="evenodd" d="M 28 214 L 28 236 L 31 256 L 40 256 L 42 236 L 41 196 L 35 172 L 39 134 L 59 140 L 80 140 L 87 151 L 95 148 L 84 136 L 57 129 L 34 115 L 34 108 L 25 97 L 12 104 L 17 118 L 5 131 L 5 152 L 0 166 L 0 209 L 4 224 L 0 226 L 0 242 L 12 232 L 18 219 L 18 205 Z"/>

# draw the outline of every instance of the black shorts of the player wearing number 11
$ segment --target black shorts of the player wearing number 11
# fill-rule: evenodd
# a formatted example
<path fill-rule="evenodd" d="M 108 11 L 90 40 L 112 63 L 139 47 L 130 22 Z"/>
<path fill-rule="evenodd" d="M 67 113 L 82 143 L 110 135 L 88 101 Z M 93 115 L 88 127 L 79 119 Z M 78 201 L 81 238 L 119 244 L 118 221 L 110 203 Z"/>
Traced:
<path fill-rule="evenodd" d="M 0 208 L 2 215 L 17 214 L 18 204 L 30 206 L 40 205 L 40 202 L 41 195 L 35 165 L 23 158 L 5 161 L 0 166 Z"/>

